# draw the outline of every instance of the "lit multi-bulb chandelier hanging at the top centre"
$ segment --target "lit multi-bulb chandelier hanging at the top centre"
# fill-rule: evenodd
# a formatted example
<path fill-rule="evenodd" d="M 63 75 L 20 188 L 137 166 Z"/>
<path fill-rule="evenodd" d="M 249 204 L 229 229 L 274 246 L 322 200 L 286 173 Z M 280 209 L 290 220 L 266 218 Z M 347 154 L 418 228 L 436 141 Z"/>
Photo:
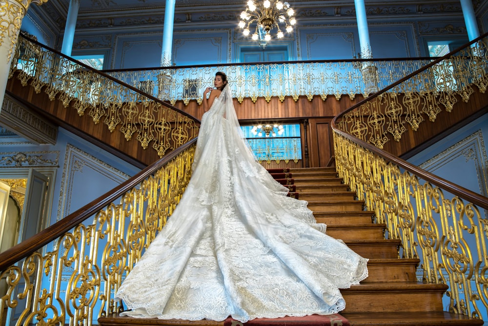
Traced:
<path fill-rule="evenodd" d="M 280 0 L 264 0 L 247 1 L 246 9 L 241 13 L 241 21 L 239 27 L 243 28 L 243 34 L 248 36 L 251 31 L 251 24 L 256 24 L 252 39 L 257 41 L 260 36 L 260 31 L 264 31 L 264 40 L 267 42 L 271 40 L 271 30 L 276 27 L 276 37 L 281 39 L 284 34 L 281 26 L 285 27 L 285 31 L 290 33 L 293 31 L 293 25 L 296 23 L 295 12 L 290 7 L 288 2 Z M 281 26 L 280 26 L 281 25 Z"/>

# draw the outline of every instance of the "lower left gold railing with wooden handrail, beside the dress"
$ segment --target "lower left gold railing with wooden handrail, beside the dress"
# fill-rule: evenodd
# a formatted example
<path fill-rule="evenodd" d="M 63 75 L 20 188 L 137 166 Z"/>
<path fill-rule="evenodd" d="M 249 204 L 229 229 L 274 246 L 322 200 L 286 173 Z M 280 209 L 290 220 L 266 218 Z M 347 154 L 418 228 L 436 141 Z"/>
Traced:
<path fill-rule="evenodd" d="M 119 311 L 114 294 L 180 201 L 195 141 L 1 253 L 0 320 L 90 326 Z"/>

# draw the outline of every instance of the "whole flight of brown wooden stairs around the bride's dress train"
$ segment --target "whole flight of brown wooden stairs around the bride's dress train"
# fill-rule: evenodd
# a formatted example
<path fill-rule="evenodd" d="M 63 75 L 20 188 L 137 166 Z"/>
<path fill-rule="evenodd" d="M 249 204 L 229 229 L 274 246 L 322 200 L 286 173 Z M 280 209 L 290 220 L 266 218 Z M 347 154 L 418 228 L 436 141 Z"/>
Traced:
<path fill-rule="evenodd" d="M 283 184 L 293 183 L 292 192 L 308 201 L 317 221 L 327 224 L 328 235 L 342 239 L 355 252 L 369 258 L 369 277 L 359 285 L 341 290 L 346 309 L 340 314 L 351 326 L 483 325 L 482 320 L 443 311 L 442 296 L 447 285 L 417 282 L 415 270 L 419 260 L 398 259 L 400 240 L 384 239 L 386 226 L 374 223 L 374 213 L 364 210 L 364 202 L 357 200 L 356 194 L 342 183 L 335 168 L 270 172 Z M 287 174 L 285 178 L 283 173 Z M 140 320 L 109 315 L 100 318 L 99 324 L 222 326 L 223 322 Z"/>

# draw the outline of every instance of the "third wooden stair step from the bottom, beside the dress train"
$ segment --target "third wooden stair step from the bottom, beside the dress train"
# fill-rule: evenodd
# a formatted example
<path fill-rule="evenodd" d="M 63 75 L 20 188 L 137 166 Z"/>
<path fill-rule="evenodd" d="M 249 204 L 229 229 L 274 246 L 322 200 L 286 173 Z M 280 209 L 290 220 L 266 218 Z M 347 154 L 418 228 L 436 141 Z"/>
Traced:
<path fill-rule="evenodd" d="M 415 282 L 419 259 L 370 259 L 368 277 L 361 282 Z"/>

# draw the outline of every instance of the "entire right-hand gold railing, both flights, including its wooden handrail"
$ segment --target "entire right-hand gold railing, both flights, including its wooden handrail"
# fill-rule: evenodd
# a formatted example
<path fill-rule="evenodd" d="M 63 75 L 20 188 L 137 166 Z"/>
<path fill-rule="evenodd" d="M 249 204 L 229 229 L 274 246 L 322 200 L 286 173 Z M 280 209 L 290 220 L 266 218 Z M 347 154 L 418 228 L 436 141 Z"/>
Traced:
<path fill-rule="evenodd" d="M 400 136 L 402 126 L 420 122 L 421 114 L 435 117 L 457 96 L 468 101 L 473 87 L 484 92 L 486 42 L 485 36 L 332 122 L 337 171 L 386 223 L 386 236 L 401 239 L 399 257 L 419 258 L 425 282 L 449 286 L 450 311 L 480 319 L 488 309 L 488 198 L 379 148 L 386 133 Z"/>

